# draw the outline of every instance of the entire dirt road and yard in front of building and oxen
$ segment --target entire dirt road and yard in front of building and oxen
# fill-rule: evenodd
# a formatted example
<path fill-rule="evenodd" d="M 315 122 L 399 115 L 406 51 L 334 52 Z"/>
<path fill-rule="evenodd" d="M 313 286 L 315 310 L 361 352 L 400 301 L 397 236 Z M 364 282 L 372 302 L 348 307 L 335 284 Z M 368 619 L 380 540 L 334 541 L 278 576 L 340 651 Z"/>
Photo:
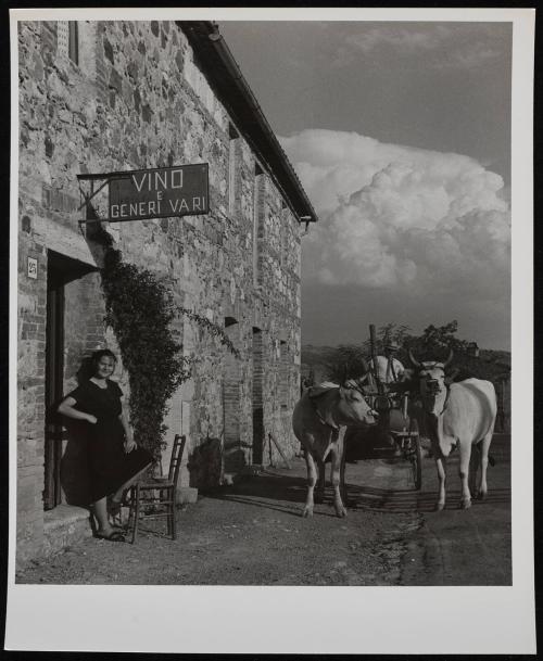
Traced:
<path fill-rule="evenodd" d="M 290 469 L 268 469 L 180 508 L 175 542 L 164 535 L 162 522 L 153 522 L 153 530 L 147 523 L 148 530 L 134 545 L 89 538 L 33 562 L 17 573 L 16 582 L 510 584 L 507 462 L 489 474 L 489 500 L 476 503 L 467 511 L 457 509 L 457 467 L 453 463 L 450 470 L 450 483 L 456 491 L 451 491 L 443 512 L 433 512 L 437 481 L 432 459 L 424 460 L 420 492 L 413 488 L 405 461 L 371 459 L 348 465 L 350 508 L 345 519 L 336 516 L 329 486 L 325 501 L 315 506 L 314 517 L 303 519 L 305 465 L 298 458 Z"/>

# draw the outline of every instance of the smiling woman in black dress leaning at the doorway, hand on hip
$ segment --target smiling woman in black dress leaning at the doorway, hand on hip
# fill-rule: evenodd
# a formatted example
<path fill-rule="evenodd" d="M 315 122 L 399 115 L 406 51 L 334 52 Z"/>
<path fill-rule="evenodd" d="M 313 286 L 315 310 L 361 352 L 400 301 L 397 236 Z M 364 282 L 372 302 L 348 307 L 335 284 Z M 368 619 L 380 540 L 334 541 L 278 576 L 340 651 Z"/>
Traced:
<path fill-rule="evenodd" d="M 123 406 L 123 391 L 110 377 L 117 359 L 110 349 L 92 355 L 93 376 L 72 391 L 59 412 L 89 423 L 88 460 L 91 504 L 98 520 L 97 535 L 124 542 L 108 518 L 118 511 L 123 492 L 152 463 L 152 456 L 138 447 Z"/>

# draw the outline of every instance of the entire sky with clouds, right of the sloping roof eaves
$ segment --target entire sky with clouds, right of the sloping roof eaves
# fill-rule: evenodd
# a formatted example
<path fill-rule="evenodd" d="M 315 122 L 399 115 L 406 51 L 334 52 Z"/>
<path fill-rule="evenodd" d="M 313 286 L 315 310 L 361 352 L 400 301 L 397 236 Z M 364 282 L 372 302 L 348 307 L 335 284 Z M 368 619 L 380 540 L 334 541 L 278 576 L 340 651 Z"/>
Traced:
<path fill-rule="evenodd" d="M 510 347 L 509 23 L 222 22 L 312 201 L 302 343 Z"/>

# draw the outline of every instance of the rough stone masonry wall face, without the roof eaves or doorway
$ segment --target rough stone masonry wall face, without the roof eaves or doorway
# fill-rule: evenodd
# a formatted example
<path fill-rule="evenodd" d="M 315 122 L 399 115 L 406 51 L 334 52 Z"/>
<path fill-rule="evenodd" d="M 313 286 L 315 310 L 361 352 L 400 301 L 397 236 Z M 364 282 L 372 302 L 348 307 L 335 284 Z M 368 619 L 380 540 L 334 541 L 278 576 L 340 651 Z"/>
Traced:
<path fill-rule="evenodd" d="M 78 225 L 85 217 L 80 186 L 89 192 L 87 182 L 79 185 L 78 174 L 209 163 L 210 214 L 104 224 L 124 259 L 164 278 L 178 305 L 236 329 L 232 339 L 241 356 L 237 360 L 192 322 L 181 317 L 177 322 L 184 352 L 198 359 L 193 378 L 172 398 L 166 420 L 169 447 L 175 433 L 188 434 L 181 484 L 198 487 L 217 480 L 217 470 L 205 461 L 215 461 L 210 457 L 217 447 L 223 453 L 225 430 L 237 436 L 236 471 L 254 461 L 254 328 L 262 335 L 262 433 L 273 433 L 288 455 L 296 448 L 290 431 L 300 371 L 296 219 L 265 164 L 256 163 L 242 137 L 243 127 L 232 126 L 175 23 L 79 22 L 79 39 L 75 64 L 64 47 L 59 49 L 56 23 L 20 25 L 22 559 L 39 550 L 42 537 L 51 251 L 86 267 L 65 288 L 65 392 L 75 385 L 78 366 L 91 351 L 105 345 L 116 349 L 115 338 L 103 323 L 101 249 L 92 241 L 91 226 Z M 103 196 L 97 195 L 93 204 L 100 215 Z M 26 275 L 28 256 L 38 260 L 37 279 Z M 122 364 L 116 378 L 129 395 Z M 224 406 L 225 398 L 235 402 L 230 409 L 228 403 Z M 212 450 L 197 450 L 199 446 Z M 262 448 L 257 454 L 260 460 Z M 166 452 L 165 468 L 167 461 Z"/>

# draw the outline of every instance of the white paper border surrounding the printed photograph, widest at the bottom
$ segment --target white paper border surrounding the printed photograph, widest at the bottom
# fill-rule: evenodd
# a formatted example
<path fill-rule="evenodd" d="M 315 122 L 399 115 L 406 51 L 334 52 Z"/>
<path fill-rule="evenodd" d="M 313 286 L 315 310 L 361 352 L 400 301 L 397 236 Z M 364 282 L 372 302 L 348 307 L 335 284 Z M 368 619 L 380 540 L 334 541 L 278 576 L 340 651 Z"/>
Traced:
<path fill-rule="evenodd" d="M 306 21 L 304 8 L 12 10 L 10 551 L 5 648 L 177 653 L 534 653 L 533 40 L 530 9 L 324 9 L 312 21 L 512 22 L 513 586 L 226 587 L 15 584 L 17 21 Z M 528 394 L 528 395 L 527 395 Z M 169 608 L 164 608 L 164 597 Z M 211 624 L 212 623 L 212 624 Z M 391 623 L 393 623 L 391 625 Z M 213 633 L 210 631 L 213 628 Z M 96 632 L 100 632 L 97 635 Z M 273 632 L 273 635 L 270 635 Z"/>

